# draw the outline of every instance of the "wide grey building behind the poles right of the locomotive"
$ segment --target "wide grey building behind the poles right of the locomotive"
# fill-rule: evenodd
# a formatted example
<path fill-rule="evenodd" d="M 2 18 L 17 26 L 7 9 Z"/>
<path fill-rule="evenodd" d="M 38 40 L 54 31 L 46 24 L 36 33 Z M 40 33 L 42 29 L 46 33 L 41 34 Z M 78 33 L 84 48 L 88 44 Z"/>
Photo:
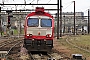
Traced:
<path fill-rule="evenodd" d="M 56 21 L 55 24 L 57 25 L 57 19 L 55 21 Z M 75 13 L 75 25 L 76 30 L 80 30 L 82 32 L 83 27 L 83 29 L 87 31 L 87 17 L 84 17 L 83 12 Z M 63 33 L 74 32 L 74 12 L 62 13 L 62 32 Z"/>

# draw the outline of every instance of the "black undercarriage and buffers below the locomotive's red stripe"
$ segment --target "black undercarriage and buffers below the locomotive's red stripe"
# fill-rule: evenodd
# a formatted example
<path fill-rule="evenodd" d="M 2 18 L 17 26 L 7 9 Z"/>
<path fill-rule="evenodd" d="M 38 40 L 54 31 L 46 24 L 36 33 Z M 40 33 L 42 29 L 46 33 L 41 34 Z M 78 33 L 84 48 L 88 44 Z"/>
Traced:
<path fill-rule="evenodd" d="M 30 40 L 24 39 L 25 48 L 28 51 L 51 51 L 53 48 L 53 40 Z"/>

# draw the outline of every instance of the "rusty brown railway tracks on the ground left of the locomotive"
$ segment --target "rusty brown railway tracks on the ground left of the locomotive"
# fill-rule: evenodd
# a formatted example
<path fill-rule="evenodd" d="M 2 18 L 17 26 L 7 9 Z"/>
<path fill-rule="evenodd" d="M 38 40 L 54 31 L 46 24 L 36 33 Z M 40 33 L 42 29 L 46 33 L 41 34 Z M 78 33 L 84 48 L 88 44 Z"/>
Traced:
<path fill-rule="evenodd" d="M 5 54 L 5 56 L 7 56 L 9 58 L 13 57 L 15 55 L 18 55 L 18 52 L 20 50 L 20 44 L 22 42 L 23 42 L 22 39 L 7 39 L 5 41 L 2 41 L 2 42 L 0 42 L 0 51 L 7 51 L 7 54 Z M 15 54 L 15 55 L 13 55 L 13 54 Z M 13 59 L 15 59 L 15 58 L 13 58 Z"/>

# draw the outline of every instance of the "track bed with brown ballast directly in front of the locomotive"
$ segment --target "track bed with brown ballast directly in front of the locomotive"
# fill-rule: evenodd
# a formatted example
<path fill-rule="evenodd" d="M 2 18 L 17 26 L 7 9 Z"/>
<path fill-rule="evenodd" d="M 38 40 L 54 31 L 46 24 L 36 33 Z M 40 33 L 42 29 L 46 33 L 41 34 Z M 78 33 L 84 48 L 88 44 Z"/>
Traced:
<path fill-rule="evenodd" d="M 61 54 L 57 52 L 51 52 L 51 53 L 30 53 L 31 60 L 70 60 L 69 58 L 65 58 L 64 56 L 61 56 Z"/>

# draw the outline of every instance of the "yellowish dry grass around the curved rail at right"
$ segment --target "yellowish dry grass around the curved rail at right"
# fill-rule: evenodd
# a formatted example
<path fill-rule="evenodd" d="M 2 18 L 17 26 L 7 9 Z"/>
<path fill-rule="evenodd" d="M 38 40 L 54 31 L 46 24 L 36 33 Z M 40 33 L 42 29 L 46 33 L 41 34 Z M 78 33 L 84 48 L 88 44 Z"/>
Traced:
<path fill-rule="evenodd" d="M 67 47 L 69 50 L 71 50 L 70 53 L 72 54 L 82 54 L 84 57 L 90 57 L 90 53 L 82 51 L 78 48 L 75 48 L 74 46 L 69 45 L 65 40 L 68 38 L 68 40 L 81 48 L 87 49 L 90 51 L 90 35 L 78 35 L 78 36 L 68 36 L 65 38 L 61 38 L 60 44 Z"/>

